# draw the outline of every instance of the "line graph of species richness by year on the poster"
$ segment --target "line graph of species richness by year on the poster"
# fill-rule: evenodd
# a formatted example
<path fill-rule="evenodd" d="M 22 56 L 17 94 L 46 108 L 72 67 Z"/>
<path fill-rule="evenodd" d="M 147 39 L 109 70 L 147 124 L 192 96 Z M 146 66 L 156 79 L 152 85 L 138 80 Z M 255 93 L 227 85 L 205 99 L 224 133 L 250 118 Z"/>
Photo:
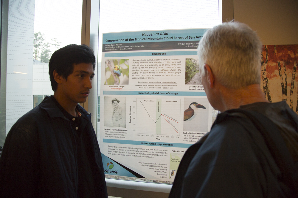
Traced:
<path fill-rule="evenodd" d="M 136 133 L 180 134 L 180 99 L 137 99 Z"/>

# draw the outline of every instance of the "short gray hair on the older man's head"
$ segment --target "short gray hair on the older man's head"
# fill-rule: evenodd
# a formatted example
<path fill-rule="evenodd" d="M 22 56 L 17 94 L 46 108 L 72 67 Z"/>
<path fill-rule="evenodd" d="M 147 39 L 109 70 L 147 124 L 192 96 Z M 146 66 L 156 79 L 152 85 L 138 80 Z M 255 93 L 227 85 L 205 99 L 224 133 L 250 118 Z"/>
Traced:
<path fill-rule="evenodd" d="M 227 88 L 241 88 L 261 81 L 262 43 L 249 26 L 227 22 L 208 29 L 198 46 L 199 68 L 204 64 Z"/>

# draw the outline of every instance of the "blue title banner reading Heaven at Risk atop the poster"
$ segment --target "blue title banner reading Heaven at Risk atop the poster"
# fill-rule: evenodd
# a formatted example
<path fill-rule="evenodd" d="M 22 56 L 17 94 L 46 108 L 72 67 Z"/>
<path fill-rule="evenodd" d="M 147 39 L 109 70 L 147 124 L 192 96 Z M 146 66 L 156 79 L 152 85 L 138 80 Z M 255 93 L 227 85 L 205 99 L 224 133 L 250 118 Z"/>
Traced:
<path fill-rule="evenodd" d="M 156 41 L 197 41 L 202 38 L 206 29 L 136 31 L 103 33 L 103 44 L 109 43 L 137 43 Z"/>

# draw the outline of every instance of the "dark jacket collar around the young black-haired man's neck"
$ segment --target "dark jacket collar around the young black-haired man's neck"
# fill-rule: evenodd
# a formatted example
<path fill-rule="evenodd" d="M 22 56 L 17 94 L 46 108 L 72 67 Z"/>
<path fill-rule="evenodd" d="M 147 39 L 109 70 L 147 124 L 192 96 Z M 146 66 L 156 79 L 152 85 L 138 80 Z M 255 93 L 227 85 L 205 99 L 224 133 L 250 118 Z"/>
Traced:
<path fill-rule="evenodd" d="M 38 105 L 40 108 L 46 110 L 46 112 L 49 114 L 51 118 L 63 118 L 68 120 L 63 113 L 60 111 L 60 109 L 57 107 L 55 102 L 49 97 L 46 96 L 44 100 Z M 84 116 L 87 118 L 91 118 L 91 113 L 87 112 L 83 107 L 79 105 L 79 108 Z"/>

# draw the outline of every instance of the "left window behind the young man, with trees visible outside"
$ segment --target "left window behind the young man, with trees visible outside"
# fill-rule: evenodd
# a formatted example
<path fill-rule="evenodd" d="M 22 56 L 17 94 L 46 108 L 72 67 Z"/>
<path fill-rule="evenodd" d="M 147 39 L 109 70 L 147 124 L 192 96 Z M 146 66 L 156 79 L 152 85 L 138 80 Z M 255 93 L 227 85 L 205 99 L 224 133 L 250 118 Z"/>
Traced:
<path fill-rule="evenodd" d="M 3 1 L 0 145 L 18 118 L 53 94 L 49 58 L 60 47 L 80 45 L 82 5 L 82 0 Z"/>

